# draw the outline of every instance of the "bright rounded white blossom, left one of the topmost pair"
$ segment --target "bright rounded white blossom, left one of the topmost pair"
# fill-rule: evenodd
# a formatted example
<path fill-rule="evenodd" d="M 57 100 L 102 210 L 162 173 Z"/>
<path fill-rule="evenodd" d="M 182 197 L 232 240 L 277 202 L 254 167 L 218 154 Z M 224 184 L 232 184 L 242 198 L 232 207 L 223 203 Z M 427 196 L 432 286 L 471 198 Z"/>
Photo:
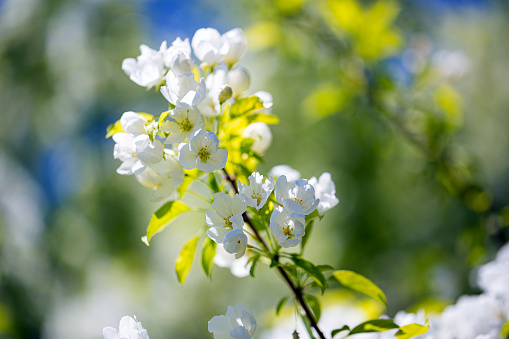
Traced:
<path fill-rule="evenodd" d="M 194 33 L 191 41 L 194 55 L 209 65 L 214 65 L 228 52 L 228 45 L 214 28 L 200 28 Z"/>

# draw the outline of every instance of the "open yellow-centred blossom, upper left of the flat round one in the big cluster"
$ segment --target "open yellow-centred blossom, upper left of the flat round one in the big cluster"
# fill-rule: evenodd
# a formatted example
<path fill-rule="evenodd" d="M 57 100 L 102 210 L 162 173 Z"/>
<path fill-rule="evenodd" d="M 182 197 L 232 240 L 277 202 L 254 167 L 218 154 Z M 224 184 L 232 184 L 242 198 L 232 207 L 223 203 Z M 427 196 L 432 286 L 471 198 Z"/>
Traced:
<path fill-rule="evenodd" d="M 166 143 L 180 143 L 201 128 L 200 121 L 201 115 L 196 105 L 177 101 L 176 107 L 162 121 L 160 130 L 169 134 L 166 137 Z"/>

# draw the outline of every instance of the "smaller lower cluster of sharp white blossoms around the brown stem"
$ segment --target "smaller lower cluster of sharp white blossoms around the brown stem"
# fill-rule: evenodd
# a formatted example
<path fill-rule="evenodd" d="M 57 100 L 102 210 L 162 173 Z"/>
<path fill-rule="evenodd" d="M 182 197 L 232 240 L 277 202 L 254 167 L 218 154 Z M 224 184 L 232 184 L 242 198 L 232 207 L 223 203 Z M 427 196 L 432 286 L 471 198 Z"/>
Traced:
<path fill-rule="evenodd" d="M 283 167 L 284 169 L 285 167 Z M 224 249 L 235 258 L 242 257 L 247 248 L 247 236 L 243 231 L 243 214 L 247 207 L 262 209 L 275 188 L 276 206 L 270 217 L 270 231 L 281 247 L 294 247 L 301 243 L 305 234 L 305 217 L 318 208 L 320 213 L 334 207 L 338 200 L 336 189 L 329 173 L 323 173 L 319 180 L 315 177 L 288 182 L 281 175 L 276 184 L 272 177 L 264 179 L 258 172 L 252 173 L 249 185 L 239 181 L 239 193 L 233 197 L 225 193 L 213 195 L 213 209 L 205 213 L 205 222 L 210 227 L 207 235 L 223 244 Z M 316 191 L 316 193 L 315 193 Z M 320 204 L 319 197 L 324 198 Z"/>

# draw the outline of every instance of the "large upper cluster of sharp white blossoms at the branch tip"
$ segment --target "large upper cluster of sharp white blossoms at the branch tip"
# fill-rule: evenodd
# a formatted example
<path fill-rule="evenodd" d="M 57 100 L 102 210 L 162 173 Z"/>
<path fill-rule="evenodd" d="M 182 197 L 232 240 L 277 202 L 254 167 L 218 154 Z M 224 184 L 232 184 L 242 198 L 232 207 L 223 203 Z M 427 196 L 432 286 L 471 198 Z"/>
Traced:
<path fill-rule="evenodd" d="M 158 51 L 141 45 L 140 56 L 124 60 L 122 69 L 131 80 L 147 88 L 160 86 L 170 106 L 159 121 L 148 114 L 125 112 L 121 131 L 113 134 L 113 155 L 122 161 L 117 172 L 134 174 L 140 184 L 154 191 L 152 200 L 177 199 L 183 169 L 210 173 L 225 167 L 228 151 L 219 148 L 215 133 L 202 128 L 202 119 L 203 115 L 218 117 L 225 101 L 240 98 L 249 88 L 247 70 L 237 65 L 246 45 L 239 28 L 223 35 L 202 28 L 191 44 L 189 39 L 177 38 L 170 47 L 164 41 Z M 193 53 L 202 61 L 199 67 Z M 266 92 L 255 95 L 270 110 L 272 96 Z M 270 129 L 262 122 L 247 126 L 244 137 L 254 139 L 251 149 L 258 154 L 272 141 Z"/>

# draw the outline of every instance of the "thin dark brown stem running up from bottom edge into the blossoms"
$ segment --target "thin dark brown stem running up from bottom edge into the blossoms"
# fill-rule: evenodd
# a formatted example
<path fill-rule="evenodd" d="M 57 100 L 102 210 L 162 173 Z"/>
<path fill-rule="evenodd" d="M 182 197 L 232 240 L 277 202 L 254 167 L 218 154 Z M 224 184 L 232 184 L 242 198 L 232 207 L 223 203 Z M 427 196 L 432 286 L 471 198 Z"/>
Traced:
<path fill-rule="evenodd" d="M 228 180 L 228 182 L 232 185 L 235 193 L 239 193 L 239 189 L 237 188 L 237 184 L 235 183 L 235 177 L 230 176 L 228 174 L 228 172 L 226 172 L 225 169 L 223 169 L 223 172 L 225 174 L 226 180 Z M 246 224 L 248 224 L 248 226 L 252 229 L 253 233 L 255 234 L 256 238 L 258 238 L 262 247 L 268 253 L 270 253 L 269 248 L 267 247 L 267 244 L 265 243 L 263 238 L 260 236 L 260 233 L 258 233 L 258 230 L 255 228 L 255 226 L 253 225 L 253 223 L 251 222 L 251 220 L 249 219 L 249 217 L 247 216 L 247 214 L 245 212 L 244 212 L 244 214 L 242 214 L 242 217 L 244 218 L 244 222 Z M 272 259 L 276 262 L 279 262 L 279 256 L 277 254 L 272 255 Z M 318 334 L 320 339 L 325 339 L 325 336 L 323 335 L 322 331 L 320 330 L 320 328 L 318 328 L 318 324 L 316 322 L 316 319 L 315 319 L 313 313 L 311 312 L 308 304 L 304 300 L 302 291 L 295 286 L 295 284 L 292 282 L 292 280 L 290 279 L 290 277 L 288 276 L 288 274 L 286 273 L 286 271 L 284 270 L 284 268 L 282 266 L 276 266 L 276 270 L 279 272 L 279 274 L 281 275 L 283 280 L 286 282 L 286 284 L 292 291 L 293 295 L 295 296 L 295 299 L 299 302 L 300 306 L 302 307 L 302 310 L 306 314 L 306 318 L 308 319 L 311 327 L 316 331 L 316 333 Z"/>

